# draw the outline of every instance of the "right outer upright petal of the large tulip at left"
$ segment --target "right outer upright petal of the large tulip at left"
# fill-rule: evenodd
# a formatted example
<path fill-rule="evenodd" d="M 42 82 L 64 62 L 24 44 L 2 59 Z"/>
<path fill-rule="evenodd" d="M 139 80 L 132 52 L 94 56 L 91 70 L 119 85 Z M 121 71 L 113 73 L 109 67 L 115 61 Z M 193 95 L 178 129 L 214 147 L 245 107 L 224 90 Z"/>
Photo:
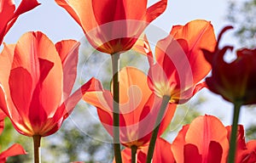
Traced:
<path fill-rule="evenodd" d="M 73 89 L 73 84 L 77 76 L 77 65 L 79 61 L 79 42 L 65 40 L 57 42 L 55 47 L 61 57 L 63 67 L 63 97 L 65 101 Z"/>

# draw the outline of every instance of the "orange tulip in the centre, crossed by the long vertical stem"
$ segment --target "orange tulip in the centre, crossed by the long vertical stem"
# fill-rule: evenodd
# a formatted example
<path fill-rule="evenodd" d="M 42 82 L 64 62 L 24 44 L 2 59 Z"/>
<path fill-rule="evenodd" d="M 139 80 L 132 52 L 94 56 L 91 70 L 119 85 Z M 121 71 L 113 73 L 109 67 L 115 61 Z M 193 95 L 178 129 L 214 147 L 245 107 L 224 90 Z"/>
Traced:
<path fill-rule="evenodd" d="M 147 144 L 154 130 L 154 122 L 160 110 L 161 98 L 152 93 L 147 76 L 136 68 L 126 67 L 119 71 L 119 139 L 126 147 L 137 148 Z M 103 126 L 113 136 L 113 94 L 100 88 L 85 93 L 84 100 L 93 104 Z M 172 120 L 176 105 L 168 104 L 160 125 L 160 136 Z"/>

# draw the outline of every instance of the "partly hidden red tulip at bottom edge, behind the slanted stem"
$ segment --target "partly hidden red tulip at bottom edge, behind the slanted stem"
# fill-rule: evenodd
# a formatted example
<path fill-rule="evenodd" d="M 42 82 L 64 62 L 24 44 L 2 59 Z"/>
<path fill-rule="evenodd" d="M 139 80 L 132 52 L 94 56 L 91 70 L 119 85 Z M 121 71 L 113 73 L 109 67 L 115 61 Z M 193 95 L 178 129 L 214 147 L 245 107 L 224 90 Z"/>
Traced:
<path fill-rule="evenodd" d="M 175 163 L 172 155 L 171 143 L 163 138 L 157 138 L 154 148 L 153 163 Z M 137 150 L 137 163 L 145 163 L 147 160 L 148 146 Z M 124 163 L 131 162 L 131 149 L 122 150 L 122 160 Z M 113 160 L 113 163 L 115 161 Z"/>

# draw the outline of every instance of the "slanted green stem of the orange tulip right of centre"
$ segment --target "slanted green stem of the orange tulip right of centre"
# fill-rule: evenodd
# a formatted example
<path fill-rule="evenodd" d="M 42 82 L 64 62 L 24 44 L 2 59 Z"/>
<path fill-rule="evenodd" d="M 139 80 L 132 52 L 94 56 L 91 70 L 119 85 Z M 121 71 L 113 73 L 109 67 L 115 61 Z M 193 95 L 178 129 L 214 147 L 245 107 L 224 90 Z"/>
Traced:
<path fill-rule="evenodd" d="M 150 143 L 148 146 L 147 163 L 151 163 L 151 160 L 153 158 L 154 145 L 155 145 L 157 134 L 158 134 L 158 131 L 160 128 L 160 122 L 166 112 L 166 106 L 169 103 L 170 98 L 171 98 L 170 96 L 166 96 L 166 95 L 162 98 L 162 103 L 160 105 L 160 112 L 158 113 L 156 121 L 154 123 L 154 130 L 152 132 L 152 136 L 151 136 Z"/>

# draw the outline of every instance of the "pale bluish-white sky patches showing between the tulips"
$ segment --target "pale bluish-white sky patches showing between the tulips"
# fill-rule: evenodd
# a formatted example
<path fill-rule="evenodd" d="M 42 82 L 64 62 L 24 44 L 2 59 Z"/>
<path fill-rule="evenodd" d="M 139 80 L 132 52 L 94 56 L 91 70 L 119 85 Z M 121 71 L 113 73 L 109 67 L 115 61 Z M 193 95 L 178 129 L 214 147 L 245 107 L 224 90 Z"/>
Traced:
<path fill-rule="evenodd" d="M 15 2 L 20 3 L 17 0 Z M 54 0 L 38 0 L 38 2 L 42 4 L 20 16 L 4 38 L 4 42 L 15 43 L 26 31 L 43 31 L 53 42 L 62 39 L 79 40 L 84 36 L 80 26 Z M 157 1 L 149 0 L 150 4 L 154 2 Z M 228 25 L 225 20 L 227 8 L 226 0 L 169 0 L 166 12 L 154 20 L 153 24 L 169 32 L 172 25 L 184 25 L 190 20 L 196 19 L 210 20 L 216 34 L 218 34 L 224 25 Z M 227 32 L 223 42 L 236 43 L 232 40 L 231 35 L 232 32 Z M 202 113 L 222 117 L 224 118 L 224 125 L 230 125 L 232 105 L 207 90 L 201 91 L 200 94 L 206 95 L 208 99 L 208 102 L 201 108 Z M 196 100 L 196 98 L 192 100 Z M 253 115 L 250 117 L 248 114 L 244 114 L 245 110 L 241 110 L 241 112 L 242 124 L 253 121 Z"/>

